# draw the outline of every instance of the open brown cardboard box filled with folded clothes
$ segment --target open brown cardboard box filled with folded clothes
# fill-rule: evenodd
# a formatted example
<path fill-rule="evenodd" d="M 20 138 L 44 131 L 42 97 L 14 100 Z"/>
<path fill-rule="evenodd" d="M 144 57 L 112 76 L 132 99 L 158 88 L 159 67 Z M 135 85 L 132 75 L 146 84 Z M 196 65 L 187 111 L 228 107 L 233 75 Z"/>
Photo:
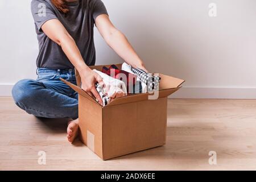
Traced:
<path fill-rule="evenodd" d="M 101 71 L 103 66 L 90 68 Z M 117 64 L 117 67 L 121 68 L 122 64 Z M 165 144 L 167 97 L 179 90 L 184 80 L 163 74 L 159 76 L 157 100 L 148 100 L 148 93 L 133 94 L 117 98 L 105 107 L 81 89 L 78 73 L 76 79 L 79 86 L 63 80 L 79 93 L 82 142 L 103 160 Z"/>

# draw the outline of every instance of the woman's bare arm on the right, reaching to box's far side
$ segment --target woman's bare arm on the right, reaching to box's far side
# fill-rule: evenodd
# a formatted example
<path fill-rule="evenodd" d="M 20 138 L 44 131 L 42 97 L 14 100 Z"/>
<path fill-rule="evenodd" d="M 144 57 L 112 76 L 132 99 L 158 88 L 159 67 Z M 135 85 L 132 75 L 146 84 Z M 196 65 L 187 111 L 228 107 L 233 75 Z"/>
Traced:
<path fill-rule="evenodd" d="M 110 21 L 109 16 L 102 14 L 96 18 L 96 26 L 101 36 L 104 38 L 106 43 L 114 49 L 114 51 L 122 57 L 126 63 L 130 64 L 134 68 L 141 68 L 147 72 L 144 67 L 143 61 L 139 58 L 137 53 L 134 51 L 131 44 L 128 42 L 125 35 L 121 31 L 114 27 Z"/>

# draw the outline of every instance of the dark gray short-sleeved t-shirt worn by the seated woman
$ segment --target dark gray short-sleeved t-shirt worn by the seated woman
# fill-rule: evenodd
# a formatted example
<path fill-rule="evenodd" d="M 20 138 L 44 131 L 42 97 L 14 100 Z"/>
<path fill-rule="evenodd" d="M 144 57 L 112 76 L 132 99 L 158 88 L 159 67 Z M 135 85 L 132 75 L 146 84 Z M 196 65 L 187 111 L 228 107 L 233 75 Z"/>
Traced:
<path fill-rule="evenodd" d="M 94 65 L 96 52 L 93 40 L 93 27 L 98 15 L 107 14 L 101 0 L 77 0 L 68 2 L 69 13 L 63 14 L 52 5 L 51 0 L 32 0 L 31 11 L 35 20 L 39 42 L 38 68 L 73 69 L 61 47 L 49 39 L 42 31 L 42 25 L 50 19 L 59 19 L 75 40 L 86 65 Z"/>

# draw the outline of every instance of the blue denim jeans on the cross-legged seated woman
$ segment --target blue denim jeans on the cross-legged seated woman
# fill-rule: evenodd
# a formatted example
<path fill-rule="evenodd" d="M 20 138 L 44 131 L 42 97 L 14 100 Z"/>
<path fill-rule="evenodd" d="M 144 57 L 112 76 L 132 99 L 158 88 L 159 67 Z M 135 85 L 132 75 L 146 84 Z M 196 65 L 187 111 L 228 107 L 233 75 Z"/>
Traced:
<path fill-rule="evenodd" d="M 60 78 L 76 84 L 75 71 L 38 68 L 36 80 L 20 80 L 12 90 L 15 104 L 44 118 L 78 118 L 78 94 Z"/>

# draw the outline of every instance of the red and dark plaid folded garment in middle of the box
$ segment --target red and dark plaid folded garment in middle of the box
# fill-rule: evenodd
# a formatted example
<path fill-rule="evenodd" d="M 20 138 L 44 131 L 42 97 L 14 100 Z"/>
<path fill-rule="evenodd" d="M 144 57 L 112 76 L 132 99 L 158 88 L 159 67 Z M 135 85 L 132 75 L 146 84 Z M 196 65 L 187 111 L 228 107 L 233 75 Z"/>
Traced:
<path fill-rule="evenodd" d="M 108 76 L 111 76 L 115 79 L 125 82 L 126 89 L 128 93 L 135 93 L 135 84 L 137 81 L 137 76 L 133 73 L 129 73 L 123 70 L 120 70 L 114 64 L 109 68 L 103 67 L 102 72 Z"/>

